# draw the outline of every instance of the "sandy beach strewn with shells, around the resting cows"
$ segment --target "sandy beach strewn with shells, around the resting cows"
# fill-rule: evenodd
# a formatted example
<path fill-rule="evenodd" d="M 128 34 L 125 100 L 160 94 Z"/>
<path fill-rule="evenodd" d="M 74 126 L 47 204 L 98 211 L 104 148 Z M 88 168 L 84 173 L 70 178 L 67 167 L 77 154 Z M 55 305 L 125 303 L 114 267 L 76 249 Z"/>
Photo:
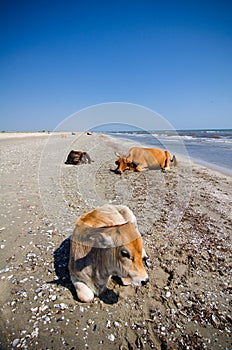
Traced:
<path fill-rule="evenodd" d="M 179 159 L 114 174 L 107 135 L 1 134 L 1 349 L 231 349 L 232 177 Z M 65 165 L 71 149 L 91 164 Z M 150 258 L 141 288 L 111 281 L 93 303 L 68 278 L 77 218 L 104 203 L 137 217 Z"/>

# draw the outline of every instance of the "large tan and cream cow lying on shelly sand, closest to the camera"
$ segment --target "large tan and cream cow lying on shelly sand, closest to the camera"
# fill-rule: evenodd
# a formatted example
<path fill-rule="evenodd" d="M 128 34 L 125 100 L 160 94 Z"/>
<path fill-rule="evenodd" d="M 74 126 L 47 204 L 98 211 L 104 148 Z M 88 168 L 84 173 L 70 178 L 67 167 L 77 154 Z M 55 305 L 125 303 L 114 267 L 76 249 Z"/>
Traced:
<path fill-rule="evenodd" d="M 148 281 L 141 235 L 132 211 L 105 204 L 81 216 L 70 237 L 69 272 L 78 298 L 90 302 L 106 288 L 110 276 L 134 286 Z"/>

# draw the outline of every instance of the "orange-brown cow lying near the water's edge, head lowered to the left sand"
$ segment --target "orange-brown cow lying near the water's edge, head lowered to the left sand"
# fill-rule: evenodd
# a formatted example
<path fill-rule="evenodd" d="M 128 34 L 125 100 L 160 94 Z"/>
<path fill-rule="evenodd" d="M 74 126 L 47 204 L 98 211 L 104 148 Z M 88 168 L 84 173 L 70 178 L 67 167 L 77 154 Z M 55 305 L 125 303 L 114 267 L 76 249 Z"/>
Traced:
<path fill-rule="evenodd" d="M 125 170 L 142 171 L 145 169 L 161 168 L 163 171 L 170 169 L 170 163 L 177 165 L 176 157 L 171 159 L 170 153 L 159 148 L 132 147 L 126 156 L 119 156 L 115 162 L 116 174 L 122 174 Z"/>

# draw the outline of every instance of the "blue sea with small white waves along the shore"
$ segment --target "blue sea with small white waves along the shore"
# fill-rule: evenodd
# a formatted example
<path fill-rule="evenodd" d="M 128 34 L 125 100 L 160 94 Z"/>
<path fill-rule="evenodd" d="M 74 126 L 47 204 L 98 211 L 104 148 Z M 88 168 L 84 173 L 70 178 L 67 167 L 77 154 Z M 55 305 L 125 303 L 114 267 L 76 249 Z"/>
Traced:
<path fill-rule="evenodd" d="M 195 163 L 232 176 L 232 129 L 153 130 L 110 132 L 143 146 L 168 149 L 171 154 L 188 157 Z"/>

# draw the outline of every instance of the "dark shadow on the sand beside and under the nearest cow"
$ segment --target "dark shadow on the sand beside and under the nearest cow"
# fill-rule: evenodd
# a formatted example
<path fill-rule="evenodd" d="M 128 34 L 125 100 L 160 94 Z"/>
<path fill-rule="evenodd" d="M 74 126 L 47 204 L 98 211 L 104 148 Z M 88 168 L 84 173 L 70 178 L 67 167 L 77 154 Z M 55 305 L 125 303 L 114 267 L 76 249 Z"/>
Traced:
<path fill-rule="evenodd" d="M 72 284 L 69 275 L 68 263 L 70 255 L 70 239 L 66 238 L 61 245 L 54 251 L 54 269 L 58 279 L 49 283 L 63 286 L 72 293 L 74 300 L 79 301 L 77 298 L 76 290 Z M 106 289 L 104 293 L 99 296 L 99 299 L 106 304 L 115 304 L 118 301 L 118 295 L 111 289 Z"/>

